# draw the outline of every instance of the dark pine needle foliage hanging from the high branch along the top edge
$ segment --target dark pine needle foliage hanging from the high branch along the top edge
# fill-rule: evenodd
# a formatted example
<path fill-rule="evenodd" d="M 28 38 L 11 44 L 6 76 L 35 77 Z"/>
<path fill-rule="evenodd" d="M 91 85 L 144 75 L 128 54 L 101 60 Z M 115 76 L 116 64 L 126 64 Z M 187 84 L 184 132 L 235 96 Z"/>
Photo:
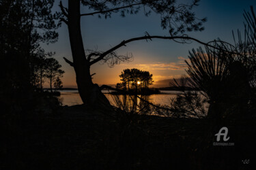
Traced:
<path fill-rule="evenodd" d="M 197 19 L 192 11 L 193 7 L 199 4 L 199 0 L 190 1 L 190 3 L 179 3 L 175 0 L 171 1 L 85 1 L 81 3 L 88 7 L 92 12 L 81 14 L 81 16 L 98 15 L 99 18 L 111 18 L 113 13 L 119 13 L 125 17 L 127 14 L 137 14 L 141 9 L 145 16 L 149 16 L 154 12 L 160 15 L 161 27 L 169 29 L 171 35 L 185 33 L 186 31 L 202 31 L 203 22 L 206 18 Z"/>

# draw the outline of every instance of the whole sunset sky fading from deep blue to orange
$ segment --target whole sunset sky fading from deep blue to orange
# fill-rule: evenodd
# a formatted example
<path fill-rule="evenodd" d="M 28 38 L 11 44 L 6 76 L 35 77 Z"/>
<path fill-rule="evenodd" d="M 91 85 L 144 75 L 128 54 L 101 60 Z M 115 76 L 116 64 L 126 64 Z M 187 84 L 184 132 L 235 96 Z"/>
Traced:
<path fill-rule="evenodd" d="M 54 10 L 59 11 L 57 4 Z M 63 1 L 64 6 L 67 1 Z M 244 18 L 243 10 L 250 10 L 250 5 L 256 10 L 256 1 L 231 1 L 231 0 L 211 0 L 200 1 L 194 11 L 198 18 L 207 17 L 205 30 L 202 32 L 188 33 L 190 37 L 195 37 L 201 41 L 212 41 L 220 37 L 221 39 L 233 43 L 231 31 L 237 29 L 243 30 Z M 81 8 L 81 13 L 85 9 Z M 81 18 L 81 30 L 85 49 L 91 50 L 109 50 L 111 46 L 119 44 L 125 39 L 143 36 L 145 31 L 150 35 L 167 35 L 168 30 L 162 30 L 160 27 L 160 16 L 152 13 L 149 17 L 140 12 L 137 15 L 130 15 L 122 18 L 119 14 L 113 14 L 111 18 L 105 20 L 97 16 L 83 16 Z M 74 69 L 63 61 L 63 56 L 72 61 L 70 42 L 68 37 L 68 27 L 62 24 L 58 30 L 59 40 L 55 44 L 43 45 L 48 51 L 56 52 L 55 58 L 62 65 L 66 72 L 63 75 L 64 87 L 76 87 Z M 126 47 L 119 48 L 118 54 L 132 53 L 134 60 L 130 63 L 120 63 L 113 68 L 108 65 L 96 63 L 91 67 L 91 73 L 94 75 L 94 83 L 97 84 L 116 84 L 119 82 L 119 75 L 123 69 L 137 68 L 144 71 L 150 71 L 153 74 L 155 84 L 159 80 L 178 78 L 186 73 L 186 64 L 184 60 L 188 58 L 188 50 L 201 46 L 198 43 L 178 44 L 170 40 L 154 39 L 153 41 L 134 41 L 127 44 Z M 162 85 L 162 86 L 168 86 Z M 47 87 L 47 84 L 45 84 Z"/>

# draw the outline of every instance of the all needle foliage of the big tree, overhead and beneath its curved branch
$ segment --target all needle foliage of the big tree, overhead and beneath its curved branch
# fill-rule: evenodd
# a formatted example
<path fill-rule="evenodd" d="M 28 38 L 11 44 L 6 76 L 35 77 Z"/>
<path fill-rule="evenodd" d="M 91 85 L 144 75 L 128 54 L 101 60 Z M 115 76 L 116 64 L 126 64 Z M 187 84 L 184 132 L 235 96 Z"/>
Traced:
<path fill-rule="evenodd" d="M 175 0 L 171 1 L 85 1 L 81 3 L 89 9 L 89 13 L 81 14 L 81 16 L 98 15 L 99 18 L 111 18 L 112 14 L 118 13 L 122 17 L 128 14 L 137 14 L 140 10 L 145 16 L 150 16 L 151 12 L 160 15 L 162 29 L 168 29 L 171 36 L 184 35 L 190 31 L 203 31 L 203 22 L 206 18 L 198 19 L 193 12 L 193 8 L 199 4 L 199 0 L 193 0 L 188 3 L 178 3 Z M 62 6 L 62 5 L 61 5 Z M 63 14 L 65 8 L 62 6 Z M 67 13 L 66 13 L 67 14 Z M 150 36 L 145 32 L 145 36 Z M 119 55 L 115 50 L 107 52 L 87 50 L 91 64 L 101 62 L 107 63 L 110 67 L 119 64 L 120 62 L 130 62 L 133 59 L 132 53 Z"/>

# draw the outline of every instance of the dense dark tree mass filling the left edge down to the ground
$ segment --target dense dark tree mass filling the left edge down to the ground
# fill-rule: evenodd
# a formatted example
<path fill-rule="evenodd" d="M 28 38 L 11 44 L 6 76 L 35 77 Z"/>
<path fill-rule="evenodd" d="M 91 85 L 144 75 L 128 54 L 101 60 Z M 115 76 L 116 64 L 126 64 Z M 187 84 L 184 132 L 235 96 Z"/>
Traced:
<path fill-rule="evenodd" d="M 59 13 L 53 0 L 0 1 L 0 94 L 3 105 L 18 108 L 38 105 L 42 87 L 45 52 L 42 43 L 57 41 Z M 42 74 L 41 74 L 42 73 Z M 42 83 L 41 83 L 42 82 Z M 38 103 L 36 103 L 38 101 Z M 16 108 L 16 107 L 14 107 Z"/>

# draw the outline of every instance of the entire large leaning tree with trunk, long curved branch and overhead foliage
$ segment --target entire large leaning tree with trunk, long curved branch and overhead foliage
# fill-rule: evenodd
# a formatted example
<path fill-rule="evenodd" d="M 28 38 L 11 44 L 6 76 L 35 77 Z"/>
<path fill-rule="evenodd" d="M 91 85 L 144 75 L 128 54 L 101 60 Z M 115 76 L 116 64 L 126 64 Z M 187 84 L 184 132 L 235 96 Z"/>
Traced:
<path fill-rule="evenodd" d="M 87 7 L 90 12 L 81 14 L 81 4 L 84 7 Z M 68 25 L 73 58 L 72 62 L 68 61 L 66 58 L 65 60 L 74 67 L 74 71 L 76 72 L 76 84 L 83 103 L 88 103 L 89 105 L 109 105 L 109 101 L 102 92 L 100 92 L 98 85 L 91 81 L 90 67 L 100 61 L 113 66 L 121 61 L 130 61 L 130 59 L 132 59 L 132 55 L 118 55 L 115 52 L 118 48 L 125 46 L 132 41 L 139 41 L 141 39 L 193 39 L 184 35 L 184 33 L 186 31 L 202 31 L 202 23 L 205 22 L 205 18 L 199 20 L 193 13 L 193 7 L 196 5 L 198 5 L 198 0 L 192 1 L 191 3 L 160 0 L 69 0 L 68 7 L 64 7 L 62 3 L 60 3 L 59 6 L 61 7 L 61 12 L 63 14 L 61 20 Z M 110 18 L 111 14 L 115 13 L 119 13 L 121 16 L 126 16 L 126 14 L 137 14 L 141 9 L 143 9 L 145 16 L 148 16 L 150 12 L 159 14 L 161 26 L 163 29 L 169 29 L 170 36 L 151 36 L 146 32 L 144 36 L 122 41 L 120 44 L 117 44 L 117 46 L 113 46 L 113 48 L 104 52 L 87 50 L 88 54 L 85 53 L 81 35 L 81 17 L 95 15 L 99 18 L 102 16 L 104 16 L 104 18 Z"/>

